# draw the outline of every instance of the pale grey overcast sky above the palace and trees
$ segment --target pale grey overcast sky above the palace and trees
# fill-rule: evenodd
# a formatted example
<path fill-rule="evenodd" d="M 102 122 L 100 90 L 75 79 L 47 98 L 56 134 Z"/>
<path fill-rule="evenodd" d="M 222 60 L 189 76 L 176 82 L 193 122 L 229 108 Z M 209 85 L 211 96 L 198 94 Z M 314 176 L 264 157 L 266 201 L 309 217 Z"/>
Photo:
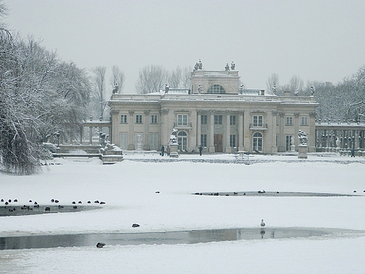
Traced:
<path fill-rule="evenodd" d="M 134 93 L 146 65 L 172 70 L 232 60 L 248 89 L 279 74 L 331 81 L 365 65 L 364 0 L 6 0 L 8 28 L 43 39 L 78 67 L 118 65 Z M 107 74 L 107 82 L 109 83 Z M 112 86 L 107 87 L 108 91 Z"/>

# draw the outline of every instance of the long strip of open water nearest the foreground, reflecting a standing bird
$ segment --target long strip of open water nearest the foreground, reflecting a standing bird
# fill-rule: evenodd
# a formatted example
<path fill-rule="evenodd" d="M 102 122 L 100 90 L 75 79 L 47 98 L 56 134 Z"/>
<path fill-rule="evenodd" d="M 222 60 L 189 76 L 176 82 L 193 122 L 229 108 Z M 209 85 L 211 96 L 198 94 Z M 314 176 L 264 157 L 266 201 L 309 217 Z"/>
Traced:
<path fill-rule="evenodd" d="M 51 247 L 89 247 L 98 242 L 107 245 L 137 244 L 196 244 L 234 240 L 282 239 L 292 237 L 341 237 L 364 235 L 361 230 L 329 228 L 234 228 L 216 230 L 187 230 L 163 233 L 100 233 L 72 235 L 31 235 L 0 237 L 0 249 L 31 249 Z"/>

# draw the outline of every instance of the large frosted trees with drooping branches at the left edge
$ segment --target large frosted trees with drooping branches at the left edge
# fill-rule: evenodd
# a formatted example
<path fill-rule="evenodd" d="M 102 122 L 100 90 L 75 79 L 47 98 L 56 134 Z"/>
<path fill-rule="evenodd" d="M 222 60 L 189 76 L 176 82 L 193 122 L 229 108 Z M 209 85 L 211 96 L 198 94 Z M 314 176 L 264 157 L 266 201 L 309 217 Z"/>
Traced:
<path fill-rule="evenodd" d="M 34 174 L 41 171 L 39 160 L 50 157 L 42 142 L 86 117 L 90 85 L 84 70 L 33 37 L 1 28 L 0 38 L 0 167 Z"/>

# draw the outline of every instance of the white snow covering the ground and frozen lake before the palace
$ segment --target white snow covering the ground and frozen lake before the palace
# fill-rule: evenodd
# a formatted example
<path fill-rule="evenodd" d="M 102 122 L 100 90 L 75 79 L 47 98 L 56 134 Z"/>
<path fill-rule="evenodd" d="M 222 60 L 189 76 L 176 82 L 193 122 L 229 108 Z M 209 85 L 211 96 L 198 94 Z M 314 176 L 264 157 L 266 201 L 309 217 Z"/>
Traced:
<path fill-rule="evenodd" d="M 0 217 L 0 236 L 141 233 L 213 228 L 343 228 L 365 230 L 364 158 L 180 155 L 207 162 L 136 162 L 157 153 L 124 153 L 124 161 L 55 159 L 43 174 L 0 174 L 0 199 L 41 205 L 105 201 L 102 209 Z M 164 159 L 167 159 L 165 157 Z M 219 162 L 223 163 L 211 163 Z M 274 162 L 265 162 L 267 160 Z M 293 162 L 291 162 L 293 161 Z M 340 162 L 349 161 L 348 164 Z M 359 197 L 234 197 L 196 192 L 293 191 Z M 156 193 L 159 191 L 159 193 Z M 139 228 L 132 228 L 139 223 Z M 364 235 L 364 234 L 363 234 Z M 96 243 L 95 243 L 96 244 Z M 364 273 L 365 237 L 298 237 L 200 244 L 59 247 L 0 251 L 0 273 Z"/>

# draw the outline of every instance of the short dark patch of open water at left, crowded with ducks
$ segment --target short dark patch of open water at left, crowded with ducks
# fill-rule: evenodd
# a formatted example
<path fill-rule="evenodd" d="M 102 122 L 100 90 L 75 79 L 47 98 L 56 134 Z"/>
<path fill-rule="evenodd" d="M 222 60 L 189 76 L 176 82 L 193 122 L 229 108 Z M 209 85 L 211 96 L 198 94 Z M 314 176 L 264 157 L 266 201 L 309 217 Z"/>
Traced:
<path fill-rule="evenodd" d="M 49 210 L 46 210 L 48 207 Z M 24 215 L 36 215 L 36 214 L 49 214 L 49 213 L 60 213 L 60 212 L 78 212 L 88 211 L 94 209 L 101 209 L 101 207 L 95 206 L 82 206 L 75 204 L 72 206 L 58 206 L 58 205 L 46 205 L 46 206 L 13 206 L 8 204 L 6 207 L 0 207 L 0 216 L 24 216 Z"/>

